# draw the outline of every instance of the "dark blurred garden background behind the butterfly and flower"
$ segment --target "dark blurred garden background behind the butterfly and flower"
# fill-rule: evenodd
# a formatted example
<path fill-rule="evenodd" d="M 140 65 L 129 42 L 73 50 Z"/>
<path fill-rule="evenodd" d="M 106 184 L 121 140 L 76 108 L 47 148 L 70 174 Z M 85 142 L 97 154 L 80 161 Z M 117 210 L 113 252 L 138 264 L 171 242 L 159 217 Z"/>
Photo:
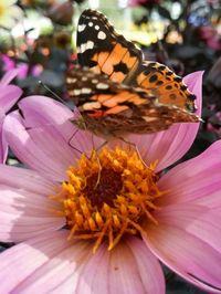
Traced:
<path fill-rule="evenodd" d="M 0 0 L 0 75 L 18 67 L 23 96 L 54 98 L 39 81 L 67 99 L 65 73 L 76 61 L 77 19 L 86 8 L 105 13 L 136 42 L 146 60 L 183 76 L 204 71 L 200 132 L 183 159 L 221 137 L 221 3 L 219 0 Z M 166 273 L 168 293 L 202 293 Z M 178 290 L 179 288 L 179 290 Z"/>

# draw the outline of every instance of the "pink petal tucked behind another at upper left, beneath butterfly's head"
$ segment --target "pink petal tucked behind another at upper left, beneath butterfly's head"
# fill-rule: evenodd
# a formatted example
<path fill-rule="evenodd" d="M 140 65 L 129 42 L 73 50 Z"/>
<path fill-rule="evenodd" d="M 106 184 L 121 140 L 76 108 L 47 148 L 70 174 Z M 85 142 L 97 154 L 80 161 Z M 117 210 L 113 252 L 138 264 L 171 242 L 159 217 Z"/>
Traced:
<path fill-rule="evenodd" d="M 29 96 L 19 103 L 25 117 L 27 127 L 36 127 L 45 124 L 53 125 L 71 146 L 81 153 L 91 153 L 92 148 L 99 147 L 103 139 L 94 138 L 87 132 L 80 130 L 72 123 L 77 117 L 77 112 L 72 112 L 65 105 L 45 96 Z M 78 157 L 80 151 L 75 151 Z"/>

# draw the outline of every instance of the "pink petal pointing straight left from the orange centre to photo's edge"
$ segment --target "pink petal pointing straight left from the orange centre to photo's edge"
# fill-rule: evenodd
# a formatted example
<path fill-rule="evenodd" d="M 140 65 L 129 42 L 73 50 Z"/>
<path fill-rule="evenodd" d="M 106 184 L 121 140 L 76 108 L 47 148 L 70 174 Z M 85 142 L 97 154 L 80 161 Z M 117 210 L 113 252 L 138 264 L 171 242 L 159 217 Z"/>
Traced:
<path fill-rule="evenodd" d="M 54 189 L 31 170 L 0 165 L 0 240 L 20 242 L 62 228 L 65 220 L 53 212 L 61 208 L 49 198 Z"/>

